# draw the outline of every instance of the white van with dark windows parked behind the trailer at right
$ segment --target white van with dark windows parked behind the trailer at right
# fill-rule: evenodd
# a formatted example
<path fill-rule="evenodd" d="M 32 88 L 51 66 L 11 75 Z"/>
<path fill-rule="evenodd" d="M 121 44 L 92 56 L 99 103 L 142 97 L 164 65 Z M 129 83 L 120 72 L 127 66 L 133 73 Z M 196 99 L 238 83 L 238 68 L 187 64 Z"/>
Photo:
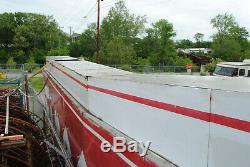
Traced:
<path fill-rule="evenodd" d="M 216 65 L 213 75 L 250 77 L 250 59 L 243 62 L 222 62 Z"/>

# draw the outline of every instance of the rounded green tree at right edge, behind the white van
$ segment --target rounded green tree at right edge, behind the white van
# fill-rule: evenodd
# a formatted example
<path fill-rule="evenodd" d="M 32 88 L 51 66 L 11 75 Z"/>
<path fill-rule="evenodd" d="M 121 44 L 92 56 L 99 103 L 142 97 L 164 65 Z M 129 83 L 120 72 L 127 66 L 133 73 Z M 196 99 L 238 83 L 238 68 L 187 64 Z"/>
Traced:
<path fill-rule="evenodd" d="M 213 56 L 226 61 L 242 61 L 248 48 L 248 32 L 233 15 L 219 14 L 211 20 L 217 33 L 213 35 Z"/>

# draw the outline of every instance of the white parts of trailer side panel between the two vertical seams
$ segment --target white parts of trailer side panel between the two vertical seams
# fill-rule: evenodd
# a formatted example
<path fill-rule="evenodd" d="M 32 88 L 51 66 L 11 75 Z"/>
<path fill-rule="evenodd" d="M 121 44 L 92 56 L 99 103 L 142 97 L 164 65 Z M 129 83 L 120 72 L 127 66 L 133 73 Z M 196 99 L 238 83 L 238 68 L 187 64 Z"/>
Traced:
<path fill-rule="evenodd" d="M 89 84 L 173 107 L 185 106 L 204 113 L 210 110 L 208 89 L 95 78 L 90 78 Z M 137 141 L 151 141 L 151 150 L 178 166 L 207 166 L 208 122 L 91 89 L 89 102 L 90 111 L 103 121 Z"/>

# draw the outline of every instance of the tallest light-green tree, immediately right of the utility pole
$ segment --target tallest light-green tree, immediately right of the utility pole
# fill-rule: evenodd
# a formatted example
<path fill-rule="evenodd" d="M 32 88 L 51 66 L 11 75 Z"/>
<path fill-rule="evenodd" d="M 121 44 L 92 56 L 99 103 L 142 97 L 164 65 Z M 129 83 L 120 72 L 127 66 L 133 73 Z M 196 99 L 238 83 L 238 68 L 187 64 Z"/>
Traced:
<path fill-rule="evenodd" d="M 144 32 L 145 22 L 145 16 L 131 14 L 125 1 L 119 0 L 110 9 L 101 24 L 101 53 L 103 57 L 101 57 L 101 61 L 104 61 L 102 63 L 123 64 L 136 61 L 137 55 L 134 47 L 138 44 L 139 35 Z M 139 45 L 137 48 L 139 49 Z M 115 56 L 118 57 L 115 58 Z M 117 60 L 112 60 L 111 57 Z"/>

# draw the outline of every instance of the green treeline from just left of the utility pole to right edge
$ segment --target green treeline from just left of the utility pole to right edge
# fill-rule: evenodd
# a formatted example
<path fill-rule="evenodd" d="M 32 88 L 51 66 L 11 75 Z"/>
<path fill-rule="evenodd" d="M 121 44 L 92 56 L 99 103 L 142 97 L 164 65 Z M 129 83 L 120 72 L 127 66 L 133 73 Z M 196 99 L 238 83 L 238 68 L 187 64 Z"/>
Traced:
<path fill-rule="evenodd" d="M 174 41 L 174 27 L 166 19 L 145 28 L 146 17 L 129 13 L 124 1 L 116 3 L 101 24 L 101 60 L 104 64 L 186 65 L 191 60 L 177 48 L 212 48 L 216 61 L 242 61 L 250 58 L 249 34 L 229 14 L 219 14 L 211 19 L 216 33 L 212 41 L 204 41 L 204 34 L 196 33 L 194 42 Z M 96 25 L 91 24 L 80 39 L 70 47 L 72 56 L 95 60 Z M 198 53 L 203 56 L 203 53 Z"/>

